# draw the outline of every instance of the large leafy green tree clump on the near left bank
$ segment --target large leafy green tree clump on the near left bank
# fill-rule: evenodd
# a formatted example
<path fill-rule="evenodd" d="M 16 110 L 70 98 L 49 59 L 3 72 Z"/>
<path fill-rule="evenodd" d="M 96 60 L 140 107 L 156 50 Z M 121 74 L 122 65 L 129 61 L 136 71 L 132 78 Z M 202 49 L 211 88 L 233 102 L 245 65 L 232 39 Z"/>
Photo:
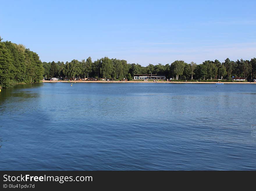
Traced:
<path fill-rule="evenodd" d="M 22 44 L 2 42 L 0 37 L 0 87 L 42 80 L 44 68 L 37 53 Z"/>

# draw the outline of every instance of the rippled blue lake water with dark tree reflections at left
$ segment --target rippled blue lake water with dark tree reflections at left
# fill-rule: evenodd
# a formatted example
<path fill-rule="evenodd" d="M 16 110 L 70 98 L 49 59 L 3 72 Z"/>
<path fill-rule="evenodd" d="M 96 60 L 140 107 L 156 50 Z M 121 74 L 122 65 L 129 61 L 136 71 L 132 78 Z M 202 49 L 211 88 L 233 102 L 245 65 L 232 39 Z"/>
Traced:
<path fill-rule="evenodd" d="M 0 170 L 256 170 L 256 85 L 41 83 L 0 93 Z"/>

